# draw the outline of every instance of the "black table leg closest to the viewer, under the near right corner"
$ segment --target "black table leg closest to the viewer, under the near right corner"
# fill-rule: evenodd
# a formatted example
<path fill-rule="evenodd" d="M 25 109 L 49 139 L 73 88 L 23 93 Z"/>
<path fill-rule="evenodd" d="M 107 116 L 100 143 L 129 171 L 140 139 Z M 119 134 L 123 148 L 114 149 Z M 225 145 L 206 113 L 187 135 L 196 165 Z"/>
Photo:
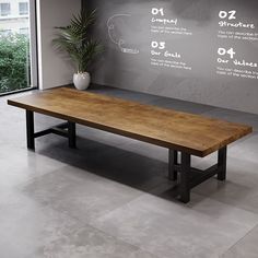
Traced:
<path fill-rule="evenodd" d="M 180 201 L 184 203 L 190 201 L 190 171 L 191 171 L 191 155 L 181 152 L 179 196 L 180 196 Z"/>

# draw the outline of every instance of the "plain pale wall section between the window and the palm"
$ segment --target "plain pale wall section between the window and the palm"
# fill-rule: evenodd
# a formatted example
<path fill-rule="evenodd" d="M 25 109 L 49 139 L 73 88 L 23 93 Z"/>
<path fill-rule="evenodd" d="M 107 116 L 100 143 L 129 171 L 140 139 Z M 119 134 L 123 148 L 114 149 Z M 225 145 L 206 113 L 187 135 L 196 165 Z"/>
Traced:
<path fill-rule="evenodd" d="M 71 15 L 81 10 L 80 0 L 44 0 L 37 3 L 38 84 L 40 90 L 72 83 L 74 68 L 57 55 L 52 39 L 55 26 L 69 24 Z"/>

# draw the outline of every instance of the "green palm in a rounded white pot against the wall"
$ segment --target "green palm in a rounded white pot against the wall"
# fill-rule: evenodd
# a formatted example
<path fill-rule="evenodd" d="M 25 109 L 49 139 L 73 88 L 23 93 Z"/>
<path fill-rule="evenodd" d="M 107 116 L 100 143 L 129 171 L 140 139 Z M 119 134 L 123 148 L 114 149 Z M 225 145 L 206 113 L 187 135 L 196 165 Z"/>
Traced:
<path fill-rule="evenodd" d="M 73 15 L 70 25 L 66 27 L 56 27 L 59 33 L 52 40 L 58 50 L 68 54 L 77 68 L 73 74 L 73 83 L 78 90 L 85 90 L 91 82 L 89 66 L 93 58 L 103 51 L 99 42 L 89 36 L 89 28 L 94 24 L 96 10 Z"/>

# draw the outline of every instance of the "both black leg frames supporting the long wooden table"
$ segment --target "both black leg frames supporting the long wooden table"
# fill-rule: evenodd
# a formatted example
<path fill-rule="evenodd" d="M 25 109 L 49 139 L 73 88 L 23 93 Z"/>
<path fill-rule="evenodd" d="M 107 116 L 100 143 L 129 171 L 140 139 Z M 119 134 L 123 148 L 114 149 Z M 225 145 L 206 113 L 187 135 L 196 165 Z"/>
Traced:
<path fill-rule="evenodd" d="M 34 112 L 26 110 L 27 148 L 35 150 L 35 139 L 49 133 L 68 138 L 69 146 L 77 148 L 75 122 L 67 121 L 43 131 L 34 131 Z M 190 201 L 190 190 L 204 180 L 218 175 L 219 180 L 226 179 L 226 146 L 218 151 L 218 163 L 206 171 L 191 167 L 191 154 L 169 150 L 168 152 L 168 178 L 178 181 L 179 200 L 184 203 Z M 179 176 L 178 176 L 179 175 Z"/>

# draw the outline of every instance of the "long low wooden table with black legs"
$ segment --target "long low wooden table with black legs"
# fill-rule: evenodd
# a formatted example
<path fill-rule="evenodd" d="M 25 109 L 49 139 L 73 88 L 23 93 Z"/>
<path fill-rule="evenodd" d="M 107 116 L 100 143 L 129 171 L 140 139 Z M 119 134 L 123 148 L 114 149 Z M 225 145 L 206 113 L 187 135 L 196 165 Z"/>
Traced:
<path fill-rule="evenodd" d="M 36 92 L 9 99 L 8 104 L 26 109 L 28 149 L 35 149 L 35 138 L 48 133 L 67 137 L 69 146 L 75 148 L 75 124 L 167 148 L 168 176 L 172 180 L 178 180 L 178 197 L 183 202 L 190 200 L 191 188 L 208 178 L 218 175 L 219 180 L 225 180 L 227 144 L 253 130 L 251 127 L 241 124 L 69 87 Z M 34 113 L 60 118 L 67 122 L 34 132 Z M 215 165 L 206 171 L 191 167 L 191 155 L 204 157 L 216 151 Z M 192 173 L 198 173 L 198 176 L 192 177 Z"/>

